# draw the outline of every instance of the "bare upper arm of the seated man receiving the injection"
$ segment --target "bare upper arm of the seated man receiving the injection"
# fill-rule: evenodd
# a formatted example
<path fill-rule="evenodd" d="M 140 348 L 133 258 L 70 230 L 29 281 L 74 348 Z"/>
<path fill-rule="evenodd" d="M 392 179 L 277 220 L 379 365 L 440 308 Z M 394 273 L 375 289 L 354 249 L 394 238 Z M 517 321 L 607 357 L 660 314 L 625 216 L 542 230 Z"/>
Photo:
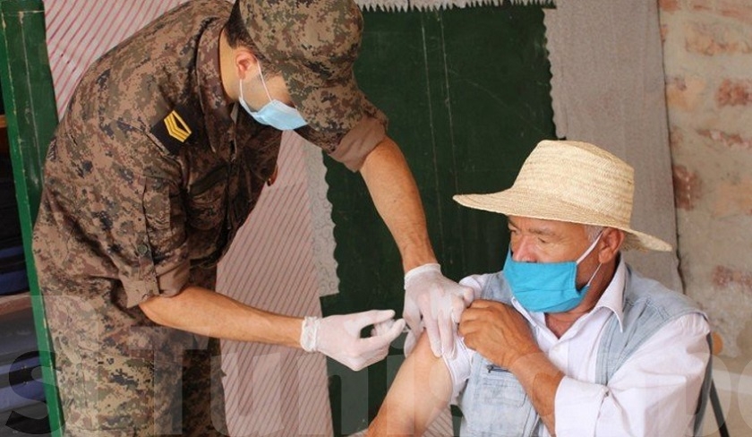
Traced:
<path fill-rule="evenodd" d="M 433 355 L 425 334 L 399 368 L 367 435 L 423 435 L 449 405 L 452 381 L 442 358 Z"/>

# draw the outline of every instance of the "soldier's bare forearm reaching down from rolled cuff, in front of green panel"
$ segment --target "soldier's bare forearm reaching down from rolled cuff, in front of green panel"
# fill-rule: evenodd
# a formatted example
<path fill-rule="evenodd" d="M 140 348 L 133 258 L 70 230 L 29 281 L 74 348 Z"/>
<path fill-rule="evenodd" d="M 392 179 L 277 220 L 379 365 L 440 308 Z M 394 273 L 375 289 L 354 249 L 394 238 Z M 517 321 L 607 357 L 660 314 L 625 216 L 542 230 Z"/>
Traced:
<path fill-rule="evenodd" d="M 436 262 L 418 188 L 397 144 L 386 137 L 366 157 L 360 173 L 397 243 L 405 271 Z"/>

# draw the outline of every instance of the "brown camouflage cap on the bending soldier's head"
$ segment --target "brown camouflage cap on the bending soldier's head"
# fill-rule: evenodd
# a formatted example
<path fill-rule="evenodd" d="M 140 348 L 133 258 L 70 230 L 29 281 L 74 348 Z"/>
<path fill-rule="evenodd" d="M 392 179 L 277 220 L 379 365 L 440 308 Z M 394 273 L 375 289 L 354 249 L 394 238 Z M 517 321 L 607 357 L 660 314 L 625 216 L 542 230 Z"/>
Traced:
<path fill-rule="evenodd" d="M 316 131 L 347 132 L 363 118 L 386 120 L 355 81 L 363 16 L 353 0 L 238 0 L 253 42 L 282 72 Z"/>

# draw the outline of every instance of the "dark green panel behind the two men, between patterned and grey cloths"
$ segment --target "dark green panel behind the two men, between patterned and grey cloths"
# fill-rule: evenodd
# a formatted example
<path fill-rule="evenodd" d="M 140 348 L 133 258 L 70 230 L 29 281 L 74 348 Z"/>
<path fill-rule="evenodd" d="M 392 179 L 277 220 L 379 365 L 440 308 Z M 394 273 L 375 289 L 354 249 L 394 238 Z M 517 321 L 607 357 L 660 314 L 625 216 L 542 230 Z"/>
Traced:
<path fill-rule="evenodd" d="M 444 273 L 458 280 L 500 270 L 508 244 L 505 219 L 461 208 L 451 196 L 508 187 L 534 145 L 555 136 L 543 10 L 506 6 L 363 15 L 355 75 L 389 116 L 389 135 L 420 187 Z M 324 313 L 372 308 L 401 313 L 397 247 L 363 179 L 331 159 L 326 163 L 340 292 L 324 298 Z M 387 367 L 394 372 L 402 350 L 395 347 L 392 354 L 389 365 L 360 373 L 330 362 L 338 434 L 362 429 L 375 415 L 388 388 Z"/>

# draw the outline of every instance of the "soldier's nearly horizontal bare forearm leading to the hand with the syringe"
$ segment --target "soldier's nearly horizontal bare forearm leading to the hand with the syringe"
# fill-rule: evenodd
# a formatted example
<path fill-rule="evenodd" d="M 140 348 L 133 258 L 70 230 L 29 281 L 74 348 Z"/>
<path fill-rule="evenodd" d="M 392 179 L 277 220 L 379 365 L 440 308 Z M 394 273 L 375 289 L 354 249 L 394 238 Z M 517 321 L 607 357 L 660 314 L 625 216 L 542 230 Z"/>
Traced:
<path fill-rule="evenodd" d="M 209 289 L 187 286 L 177 296 L 154 296 L 141 311 L 159 325 L 214 338 L 300 347 L 303 319 L 252 308 Z"/>

